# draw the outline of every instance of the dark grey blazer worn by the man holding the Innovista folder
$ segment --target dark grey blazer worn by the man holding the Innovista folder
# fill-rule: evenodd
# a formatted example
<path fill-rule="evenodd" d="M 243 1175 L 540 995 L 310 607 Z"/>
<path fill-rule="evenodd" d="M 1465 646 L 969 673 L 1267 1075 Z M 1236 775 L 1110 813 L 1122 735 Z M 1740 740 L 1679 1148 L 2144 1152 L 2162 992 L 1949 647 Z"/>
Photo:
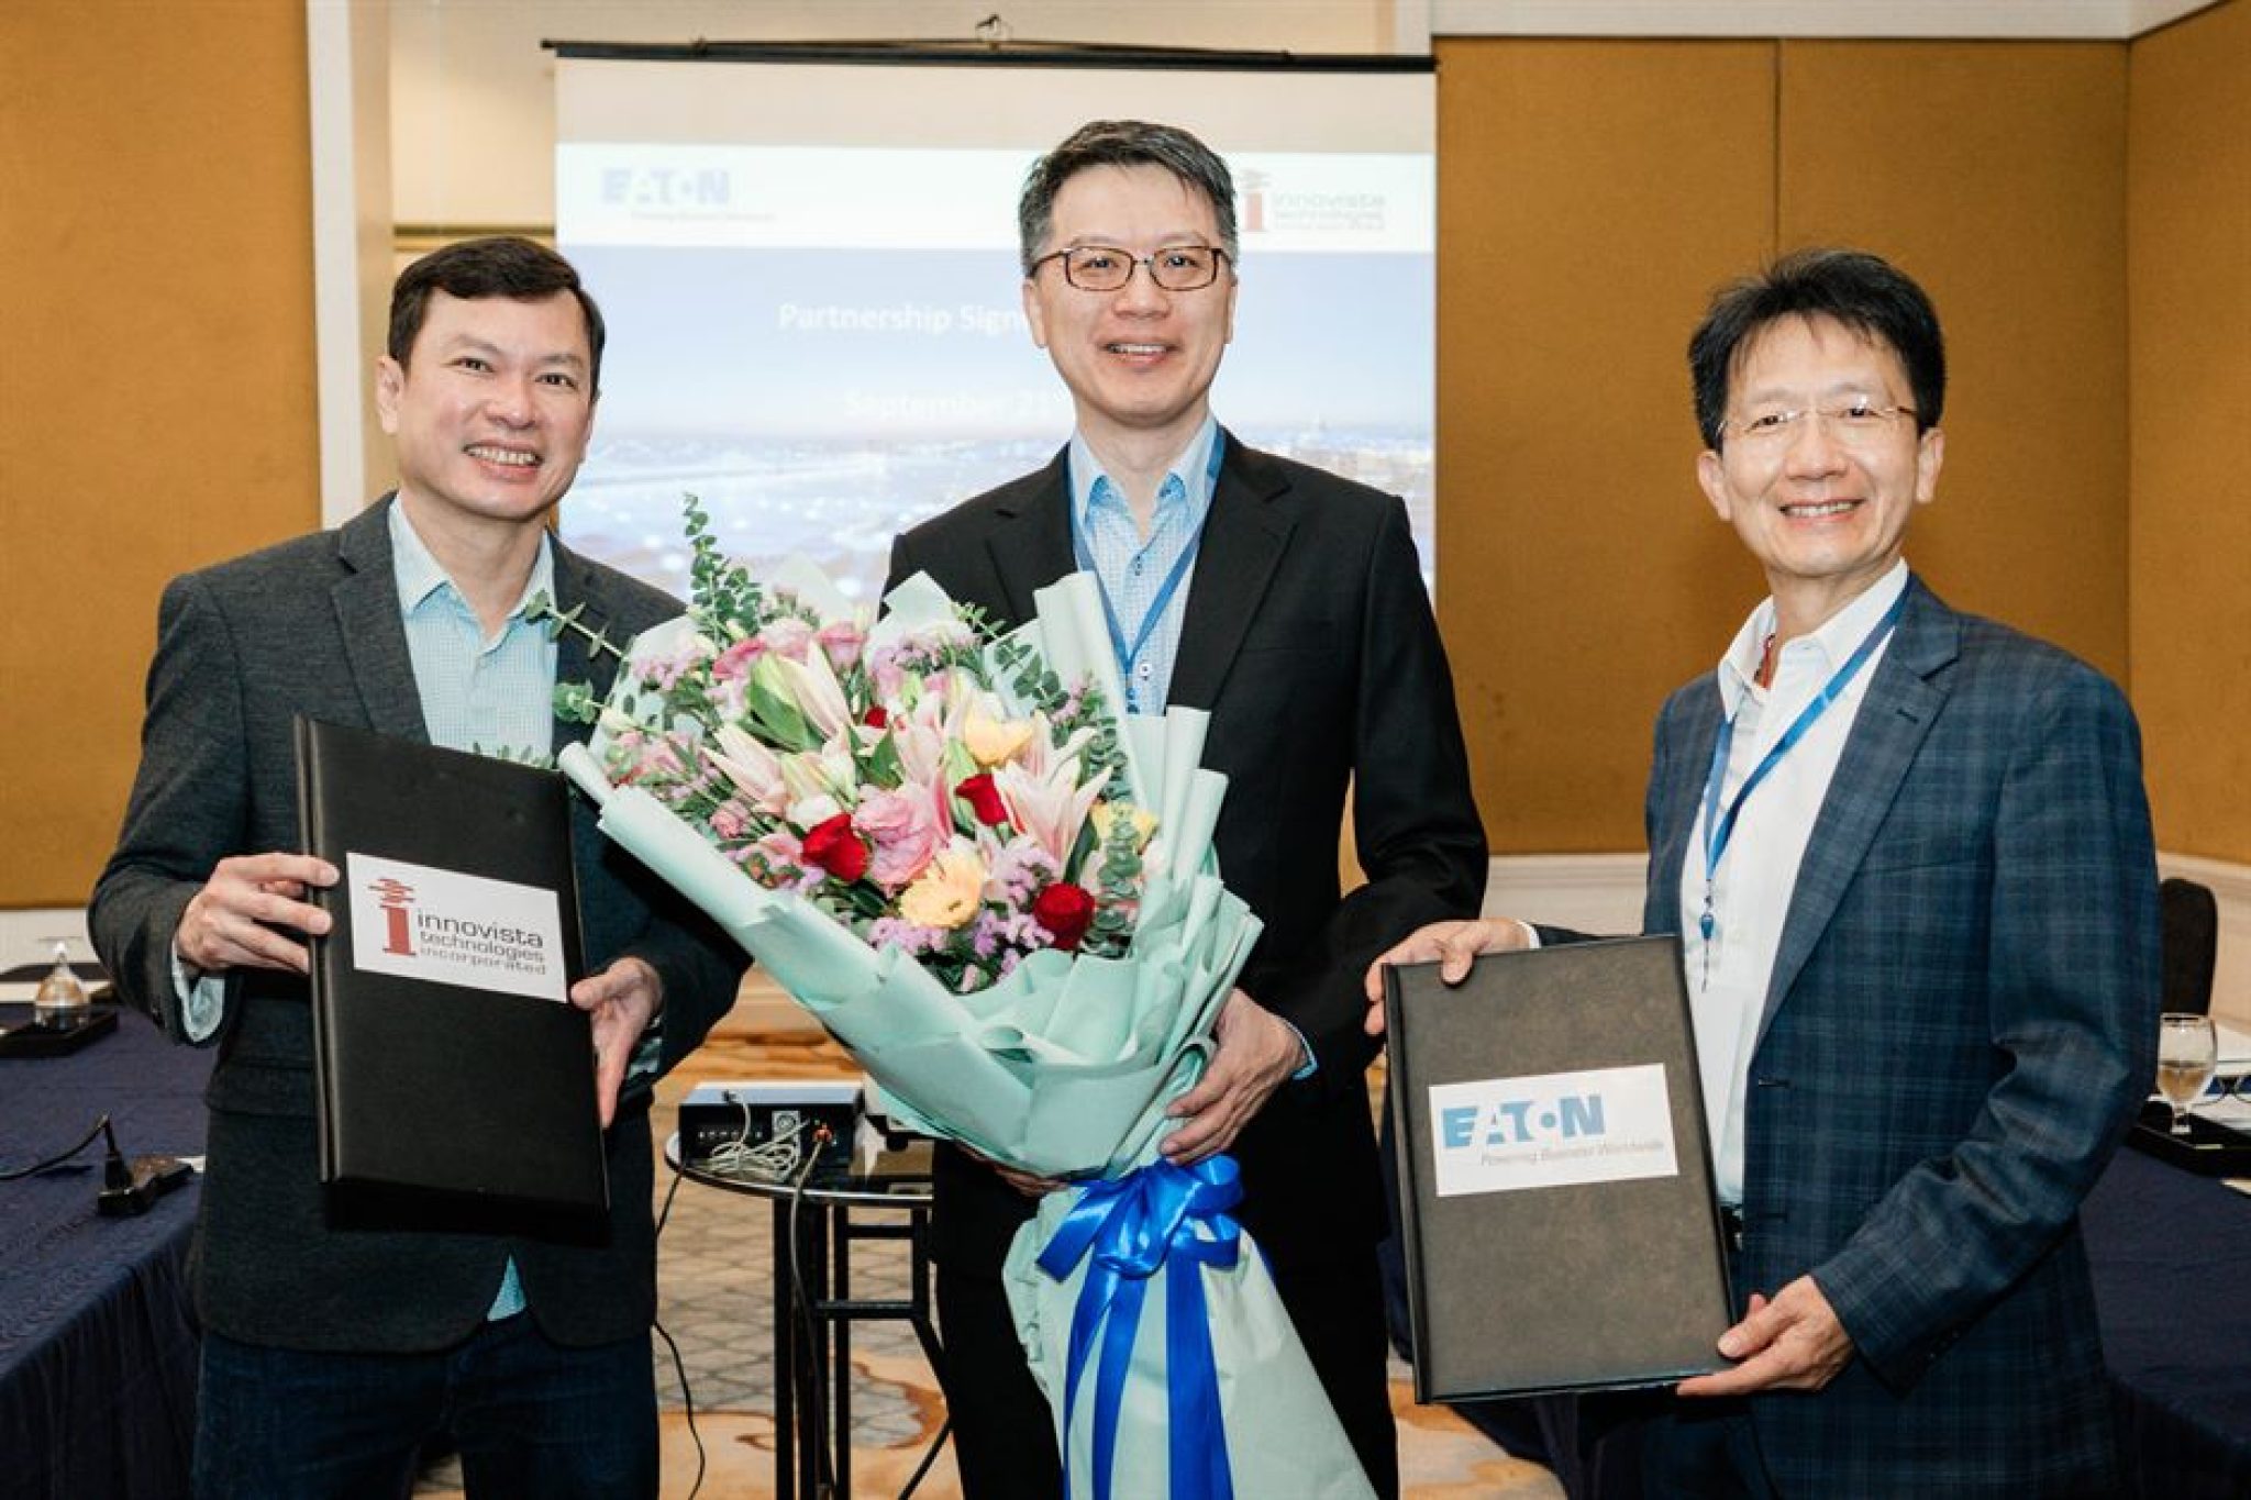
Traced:
<path fill-rule="evenodd" d="M 180 1037 L 171 940 L 212 866 L 230 855 L 304 848 L 297 832 L 293 717 L 428 740 L 398 618 L 387 504 L 338 531 L 284 542 L 176 578 L 164 589 L 149 668 L 142 765 L 117 852 L 88 913 L 119 992 Z M 560 607 L 628 639 L 680 605 L 556 546 Z M 615 659 L 588 661 L 565 634 L 558 681 L 608 688 Z M 556 724 L 556 744 L 585 726 Z M 734 1003 L 743 960 L 700 918 L 594 830 L 574 798 L 585 954 L 621 954 L 664 981 L 664 1066 Z M 434 1349 L 484 1318 L 513 1255 L 540 1327 L 590 1345 L 644 1331 L 655 1316 L 648 1214 L 648 1091 L 608 1131 L 610 1223 L 601 1244 L 484 1232 L 365 1230 L 331 1223 L 313 1127 L 313 1021 L 306 981 L 236 969 L 227 981 L 212 1131 L 191 1275 L 205 1327 L 297 1349 Z"/>

